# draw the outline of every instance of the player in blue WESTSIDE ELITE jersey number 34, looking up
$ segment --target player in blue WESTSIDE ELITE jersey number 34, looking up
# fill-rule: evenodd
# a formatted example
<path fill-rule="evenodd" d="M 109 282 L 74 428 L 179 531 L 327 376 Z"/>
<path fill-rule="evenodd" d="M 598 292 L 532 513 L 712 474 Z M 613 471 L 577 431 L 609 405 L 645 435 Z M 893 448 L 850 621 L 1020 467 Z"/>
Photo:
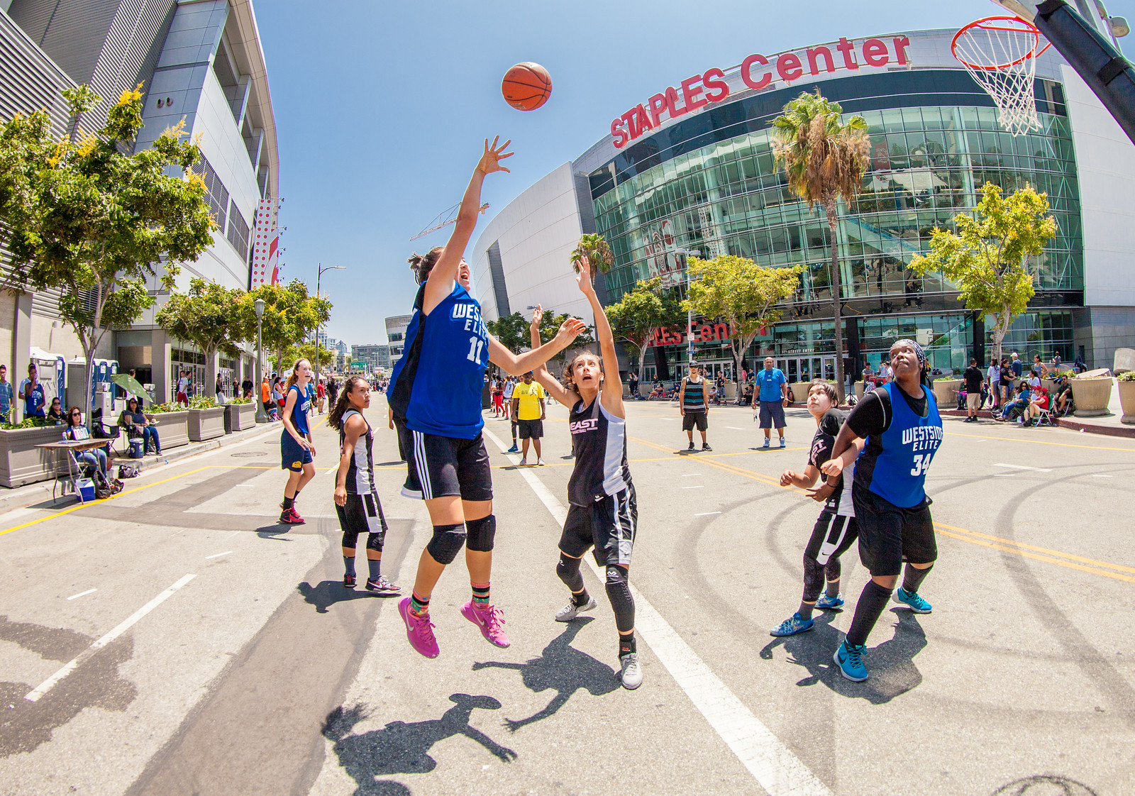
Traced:
<path fill-rule="evenodd" d="M 918 588 L 938 559 L 934 523 L 926 497 L 926 471 L 942 444 L 942 418 L 925 387 L 926 354 L 913 340 L 890 350 L 894 380 L 863 396 L 848 416 L 821 468 L 831 484 L 843 471 L 843 453 L 866 439 L 856 460 L 851 500 L 859 527 L 859 559 L 871 573 L 856 603 L 847 637 L 832 660 L 852 681 L 867 679 L 863 662 L 871 634 L 888 600 L 915 613 L 931 605 Z M 906 569 L 903 570 L 903 561 Z M 899 576 L 902 586 L 894 592 Z"/>

